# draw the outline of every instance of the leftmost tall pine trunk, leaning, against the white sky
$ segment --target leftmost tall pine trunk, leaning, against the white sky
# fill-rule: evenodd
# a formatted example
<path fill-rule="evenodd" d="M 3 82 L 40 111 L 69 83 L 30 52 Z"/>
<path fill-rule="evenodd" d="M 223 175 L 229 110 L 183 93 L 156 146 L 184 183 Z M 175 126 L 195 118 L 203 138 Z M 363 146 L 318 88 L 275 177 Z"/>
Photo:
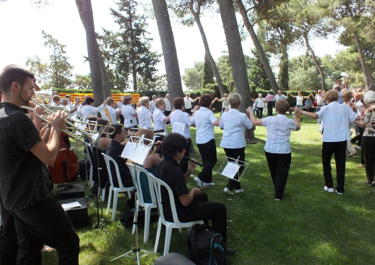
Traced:
<path fill-rule="evenodd" d="M 95 105 L 100 105 L 104 101 L 104 94 L 91 0 L 75 0 L 75 4 L 77 5 L 79 17 L 86 31 L 87 55 L 92 81 L 92 93 Z"/>

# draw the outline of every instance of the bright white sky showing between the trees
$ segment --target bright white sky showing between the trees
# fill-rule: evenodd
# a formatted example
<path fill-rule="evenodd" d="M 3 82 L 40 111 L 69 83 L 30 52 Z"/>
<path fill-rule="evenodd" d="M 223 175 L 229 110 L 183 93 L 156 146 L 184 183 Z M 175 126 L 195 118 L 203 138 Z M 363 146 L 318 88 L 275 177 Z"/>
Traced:
<path fill-rule="evenodd" d="M 112 0 L 91 0 L 95 30 L 101 32 L 101 28 L 117 30 L 118 25 L 113 21 L 109 7 L 116 8 Z M 151 0 L 139 0 L 151 8 Z M 204 47 L 196 25 L 187 27 L 181 25 L 175 16 L 170 13 L 170 20 L 177 49 L 177 57 L 181 76 L 184 69 L 192 67 L 195 61 L 204 59 Z M 211 54 L 217 59 L 227 51 L 224 30 L 220 15 L 207 14 L 201 18 L 206 33 Z M 241 23 L 237 16 L 237 22 Z M 48 47 L 44 47 L 41 30 L 51 34 L 61 44 L 66 45 L 66 55 L 70 64 L 74 66 L 73 74 L 88 74 L 88 62 L 84 62 L 83 56 L 87 56 L 85 31 L 82 26 L 74 0 L 49 0 L 49 3 L 36 8 L 30 4 L 30 0 L 7 0 L 0 3 L 0 69 L 13 63 L 25 66 L 28 57 L 39 56 L 42 62 L 47 62 L 51 53 Z M 151 50 L 161 54 L 161 43 L 158 36 L 156 21 L 149 19 L 147 27 L 150 33 Z M 344 49 L 342 45 L 335 43 L 332 36 L 328 39 L 312 39 L 311 46 L 318 56 L 334 54 Z M 250 37 L 242 41 L 243 53 L 251 54 L 253 48 Z M 289 48 L 289 57 L 295 57 L 304 53 L 304 46 Z M 161 61 L 157 65 L 157 74 L 164 74 L 165 67 Z M 277 61 L 271 60 L 271 66 L 275 70 Z M 183 83 L 183 82 L 182 82 Z"/>

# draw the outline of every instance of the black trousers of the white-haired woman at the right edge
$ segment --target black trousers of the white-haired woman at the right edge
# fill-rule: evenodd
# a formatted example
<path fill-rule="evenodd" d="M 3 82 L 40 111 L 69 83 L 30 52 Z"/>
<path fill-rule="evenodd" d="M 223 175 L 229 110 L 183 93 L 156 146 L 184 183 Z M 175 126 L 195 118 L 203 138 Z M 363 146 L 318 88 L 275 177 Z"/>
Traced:
<path fill-rule="evenodd" d="M 375 180 L 375 136 L 362 136 L 361 152 L 364 158 L 367 180 Z"/>

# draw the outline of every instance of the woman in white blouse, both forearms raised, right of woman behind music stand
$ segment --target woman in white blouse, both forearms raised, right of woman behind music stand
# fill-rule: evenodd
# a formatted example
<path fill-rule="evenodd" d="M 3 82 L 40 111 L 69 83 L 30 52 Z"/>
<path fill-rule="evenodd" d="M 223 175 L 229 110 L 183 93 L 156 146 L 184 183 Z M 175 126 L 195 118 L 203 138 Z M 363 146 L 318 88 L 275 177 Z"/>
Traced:
<path fill-rule="evenodd" d="M 300 129 L 297 113 L 293 113 L 292 119 L 286 116 L 285 113 L 289 110 L 289 104 L 285 99 L 279 99 L 275 102 L 276 116 L 256 119 L 251 107 L 249 108 L 252 124 L 265 126 L 267 129 L 267 138 L 264 145 L 265 157 L 274 186 L 274 199 L 280 200 L 291 162 L 290 132 Z"/>

